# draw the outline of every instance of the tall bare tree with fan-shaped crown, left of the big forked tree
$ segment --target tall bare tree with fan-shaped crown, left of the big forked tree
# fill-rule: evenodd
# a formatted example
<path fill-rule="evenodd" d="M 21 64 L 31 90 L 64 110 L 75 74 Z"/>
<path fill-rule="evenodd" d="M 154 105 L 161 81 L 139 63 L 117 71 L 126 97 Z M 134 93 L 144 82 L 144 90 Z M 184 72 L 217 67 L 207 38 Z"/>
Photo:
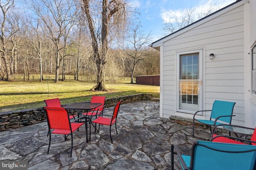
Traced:
<path fill-rule="evenodd" d="M 55 82 L 58 82 L 61 62 L 64 59 L 63 36 L 74 23 L 77 6 L 75 0 L 32 0 L 30 9 L 37 14 L 48 29 L 48 37 L 55 46 Z"/>

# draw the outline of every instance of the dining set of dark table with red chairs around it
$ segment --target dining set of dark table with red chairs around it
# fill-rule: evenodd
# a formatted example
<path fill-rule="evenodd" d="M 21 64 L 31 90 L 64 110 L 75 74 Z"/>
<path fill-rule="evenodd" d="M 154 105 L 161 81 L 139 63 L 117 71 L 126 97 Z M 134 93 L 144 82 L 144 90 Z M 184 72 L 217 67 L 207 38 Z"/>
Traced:
<path fill-rule="evenodd" d="M 116 117 L 118 115 L 119 107 L 122 102 L 120 100 L 116 103 L 113 114 L 106 115 L 103 114 L 105 104 L 105 96 L 92 96 L 91 102 L 79 102 L 66 106 L 61 106 L 60 100 L 58 98 L 44 100 L 46 103 L 46 107 L 44 107 L 44 111 L 46 113 L 46 120 L 48 123 L 48 135 L 49 135 L 49 145 L 48 151 L 50 150 L 51 144 L 51 134 L 61 134 L 64 135 L 64 139 L 66 141 L 68 135 L 71 136 L 71 152 L 70 157 L 72 156 L 72 148 L 73 148 L 73 133 L 76 130 L 85 124 L 86 129 L 86 142 L 88 143 L 88 123 L 90 125 L 90 140 L 91 140 L 91 125 L 99 132 L 100 125 L 108 125 L 110 127 L 110 139 L 111 137 L 111 127 L 115 123 L 116 127 Z M 75 110 L 77 112 L 76 115 L 72 114 L 71 110 Z M 84 111 L 84 112 L 82 112 Z M 96 125 L 98 129 L 96 128 Z M 117 133 L 117 129 L 116 129 Z M 47 135 L 47 136 L 48 136 Z"/>

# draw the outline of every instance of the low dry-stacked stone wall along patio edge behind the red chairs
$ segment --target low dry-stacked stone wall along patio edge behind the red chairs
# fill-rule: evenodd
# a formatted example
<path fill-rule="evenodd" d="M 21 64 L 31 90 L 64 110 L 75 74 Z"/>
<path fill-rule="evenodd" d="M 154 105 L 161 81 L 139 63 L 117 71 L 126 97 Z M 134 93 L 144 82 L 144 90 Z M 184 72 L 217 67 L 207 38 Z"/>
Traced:
<path fill-rule="evenodd" d="M 138 102 L 141 100 L 151 100 L 152 97 L 152 94 L 136 94 L 132 96 L 107 98 L 105 105 L 106 107 L 111 107 L 114 106 L 119 100 L 123 100 L 122 104 L 126 104 L 131 102 Z M 45 119 L 46 117 L 42 107 L 0 113 L 0 131 L 5 131 L 9 128 L 18 128 L 40 123 Z"/>

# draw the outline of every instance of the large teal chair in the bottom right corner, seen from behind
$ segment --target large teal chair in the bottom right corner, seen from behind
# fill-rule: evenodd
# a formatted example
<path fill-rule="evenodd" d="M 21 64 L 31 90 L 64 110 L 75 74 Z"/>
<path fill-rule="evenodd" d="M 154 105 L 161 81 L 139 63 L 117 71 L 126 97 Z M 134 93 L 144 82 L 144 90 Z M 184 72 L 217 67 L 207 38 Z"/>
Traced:
<path fill-rule="evenodd" d="M 175 150 L 175 152 L 174 152 Z M 171 146 L 171 169 L 177 154 L 183 170 L 256 170 L 256 146 L 195 141 L 191 155 L 180 154 Z"/>

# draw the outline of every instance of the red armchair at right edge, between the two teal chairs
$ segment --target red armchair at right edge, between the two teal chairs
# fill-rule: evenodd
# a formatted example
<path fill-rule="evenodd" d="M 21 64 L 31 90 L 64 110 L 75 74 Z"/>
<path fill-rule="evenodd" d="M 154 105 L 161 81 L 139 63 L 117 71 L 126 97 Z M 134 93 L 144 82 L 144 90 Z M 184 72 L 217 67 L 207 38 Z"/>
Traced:
<path fill-rule="evenodd" d="M 223 124 L 222 124 L 223 125 Z M 222 126 L 222 125 L 217 125 L 213 128 L 213 133 L 212 133 L 212 137 L 211 140 L 212 142 L 219 142 L 219 143 L 233 143 L 233 144 L 243 144 L 243 145 L 248 145 L 247 143 L 249 143 L 250 145 L 256 145 L 256 128 L 254 129 L 254 132 L 252 134 L 252 137 L 250 140 L 242 138 L 242 137 L 234 137 L 234 136 L 228 136 L 228 135 L 216 135 L 214 134 L 216 127 L 218 126 Z M 239 125 L 229 125 L 232 127 L 241 127 L 244 129 L 252 129 L 249 127 L 243 127 L 243 126 L 239 126 Z M 247 143 L 244 143 L 247 142 Z"/>

